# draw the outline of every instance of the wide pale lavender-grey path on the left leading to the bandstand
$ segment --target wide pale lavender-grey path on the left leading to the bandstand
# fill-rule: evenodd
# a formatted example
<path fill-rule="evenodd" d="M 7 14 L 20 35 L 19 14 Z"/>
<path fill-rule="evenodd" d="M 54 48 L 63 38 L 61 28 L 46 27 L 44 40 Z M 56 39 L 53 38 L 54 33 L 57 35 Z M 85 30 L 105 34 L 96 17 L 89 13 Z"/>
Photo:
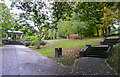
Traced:
<path fill-rule="evenodd" d="M 2 47 L 2 75 L 65 75 L 70 68 L 22 45 Z"/>

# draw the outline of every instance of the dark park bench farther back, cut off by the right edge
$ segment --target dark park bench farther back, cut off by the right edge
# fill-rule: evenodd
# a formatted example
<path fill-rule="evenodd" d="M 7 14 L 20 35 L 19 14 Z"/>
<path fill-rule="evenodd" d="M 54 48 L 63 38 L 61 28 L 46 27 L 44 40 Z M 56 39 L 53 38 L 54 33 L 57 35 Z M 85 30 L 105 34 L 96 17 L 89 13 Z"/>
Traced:
<path fill-rule="evenodd" d="M 100 44 L 101 45 L 115 45 L 117 43 L 119 43 L 120 40 L 119 38 L 112 38 L 112 39 L 103 39 Z"/>

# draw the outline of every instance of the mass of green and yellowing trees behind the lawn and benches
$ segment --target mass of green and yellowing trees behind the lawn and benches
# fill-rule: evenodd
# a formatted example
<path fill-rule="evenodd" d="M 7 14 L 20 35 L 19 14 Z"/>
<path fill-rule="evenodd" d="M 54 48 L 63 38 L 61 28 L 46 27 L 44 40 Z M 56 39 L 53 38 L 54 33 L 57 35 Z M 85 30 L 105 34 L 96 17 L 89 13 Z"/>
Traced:
<path fill-rule="evenodd" d="M 115 7 L 117 5 L 119 8 L 118 4 L 114 2 L 55 2 L 53 16 L 57 20 L 56 22 L 68 20 L 73 22 L 69 33 L 77 31 L 78 38 L 80 38 L 81 32 L 84 32 L 86 36 L 94 36 L 95 34 L 99 36 L 102 31 L 103 36 L 108 36 L 117 19 L 118 10 Z M 59 31 L 64 32 L 66 27 L 69 29 L 68 25 L 64 25 Z"/>

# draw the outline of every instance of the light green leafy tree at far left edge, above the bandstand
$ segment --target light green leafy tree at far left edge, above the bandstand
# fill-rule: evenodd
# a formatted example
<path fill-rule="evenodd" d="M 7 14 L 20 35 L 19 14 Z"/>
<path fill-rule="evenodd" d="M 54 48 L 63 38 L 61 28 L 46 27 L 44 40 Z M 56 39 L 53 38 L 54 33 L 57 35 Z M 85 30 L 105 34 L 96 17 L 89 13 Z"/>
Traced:
<path fill-rule="evenodd" d="M 0 3 L 0 25 L 2 25 L 3 35 L 17 24 L 15 20 L 5 3 Z"/>

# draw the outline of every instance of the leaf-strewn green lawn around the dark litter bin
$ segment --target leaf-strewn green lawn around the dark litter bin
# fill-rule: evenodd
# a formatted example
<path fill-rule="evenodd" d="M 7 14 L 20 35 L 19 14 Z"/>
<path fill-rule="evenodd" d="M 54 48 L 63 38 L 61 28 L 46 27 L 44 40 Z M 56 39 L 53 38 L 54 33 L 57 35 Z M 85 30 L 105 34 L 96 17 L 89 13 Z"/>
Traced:
<path fill-rule="evenodd" d="M 115 36 L 114 36 L 115 37 Z M 111 37 L 109 37 L 111 38 Z M 91 44 L 92 46 L 100 45 L 100 41 L 103 38 L 84 38 L 83 40 L 80 39 L 59 39 L 59 40 L 52 40 L 52 44 L 48 46 L 43 46 L 41 49 L 36 49 L 36 47 L 31 47 L 33 50 L 65 65 L 65 66 L 72 66 L 74 61 L 79 56 L 79 51 L 82 51 L 86 44 Z M 51 40 L 48 40 L 48 42 Z M 62 57 L 55 58 L 55 47 L 62 47 Z"/>

